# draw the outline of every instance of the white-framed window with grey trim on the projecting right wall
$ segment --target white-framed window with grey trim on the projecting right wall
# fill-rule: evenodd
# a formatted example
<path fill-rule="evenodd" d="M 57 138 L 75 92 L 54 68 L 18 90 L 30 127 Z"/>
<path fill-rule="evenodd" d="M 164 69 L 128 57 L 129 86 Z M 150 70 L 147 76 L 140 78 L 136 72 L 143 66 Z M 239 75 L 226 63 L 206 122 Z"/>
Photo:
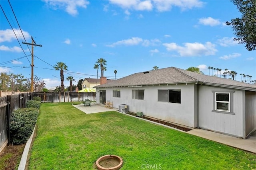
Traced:
<path fill-rule="evenodd" d="M 233 93 L 234 91 L 212 91 L 214 98 L 213 112 L 233 113 Z"/>

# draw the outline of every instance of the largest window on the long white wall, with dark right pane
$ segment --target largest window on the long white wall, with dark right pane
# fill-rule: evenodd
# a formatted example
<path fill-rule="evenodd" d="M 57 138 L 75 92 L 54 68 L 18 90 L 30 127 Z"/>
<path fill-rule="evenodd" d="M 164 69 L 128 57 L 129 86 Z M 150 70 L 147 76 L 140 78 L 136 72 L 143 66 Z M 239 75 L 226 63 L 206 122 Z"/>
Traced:
<path fill-rule="evenodd" d="M 158 90 L 158 102 L 181 103 L 181 90 Z"/>

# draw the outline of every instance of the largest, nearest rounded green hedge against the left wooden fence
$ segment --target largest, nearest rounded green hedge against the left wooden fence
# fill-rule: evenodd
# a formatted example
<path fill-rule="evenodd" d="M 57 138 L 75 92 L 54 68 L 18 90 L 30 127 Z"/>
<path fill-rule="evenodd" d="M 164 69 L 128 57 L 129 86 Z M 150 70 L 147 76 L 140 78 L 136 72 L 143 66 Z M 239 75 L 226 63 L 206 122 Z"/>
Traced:
<path fill-rule="evenodd" d="M 21 108 L 12 112 L 10 135 L 14 144 L 23 144 L 29 139 L 36 125 L 38 109 Z"/>

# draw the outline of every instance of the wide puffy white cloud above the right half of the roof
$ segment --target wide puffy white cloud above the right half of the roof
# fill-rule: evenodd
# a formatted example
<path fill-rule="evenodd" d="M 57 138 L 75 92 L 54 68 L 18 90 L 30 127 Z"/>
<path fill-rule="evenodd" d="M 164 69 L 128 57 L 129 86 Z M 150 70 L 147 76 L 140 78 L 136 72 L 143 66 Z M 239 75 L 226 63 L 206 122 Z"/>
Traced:
<path fill-rule="evenodd" d="M 184 46 L 179 46 L 176 43 L 164 43 L 163 44 L 168 51 L 177 51 L 180 56 L 201 56 L 201 55 L 214 55 L 217 49 L 215 45 L 206 42 L 201 43 L 184 43 Z"/>

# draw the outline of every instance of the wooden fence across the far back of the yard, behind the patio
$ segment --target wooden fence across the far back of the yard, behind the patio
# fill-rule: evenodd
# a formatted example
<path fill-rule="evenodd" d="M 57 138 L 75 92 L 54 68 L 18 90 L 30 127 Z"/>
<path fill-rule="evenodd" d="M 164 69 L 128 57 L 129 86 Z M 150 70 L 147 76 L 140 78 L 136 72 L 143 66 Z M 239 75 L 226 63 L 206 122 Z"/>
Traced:
<path fill-rule="evenodd" d="M 95 100 L 93 92 L 34 92 L 34 97 L 40 97 L 41 102 L 76 102 L 86 99 Z"/>

